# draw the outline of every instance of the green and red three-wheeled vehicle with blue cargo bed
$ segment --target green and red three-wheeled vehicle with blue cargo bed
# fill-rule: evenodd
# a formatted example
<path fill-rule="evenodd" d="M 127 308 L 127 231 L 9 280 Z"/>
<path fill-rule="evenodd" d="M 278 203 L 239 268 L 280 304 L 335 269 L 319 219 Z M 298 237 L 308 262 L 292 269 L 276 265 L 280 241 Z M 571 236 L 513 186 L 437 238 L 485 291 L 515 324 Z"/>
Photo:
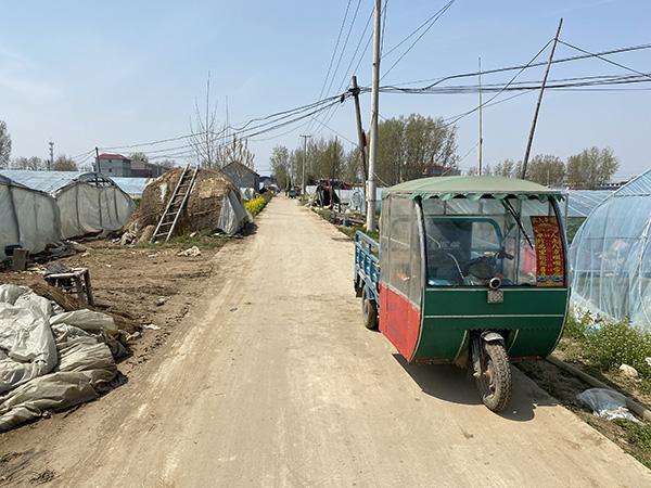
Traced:
<path fill-rule="evenodd" d="M 442 177 L 384 190 L 380 244 L 355 236 L 365 324 L 409 362 L 470 365 L 503 410 L 510 359 L 546 357 L 566 316 L 563 195 L 501 177 Z"/>

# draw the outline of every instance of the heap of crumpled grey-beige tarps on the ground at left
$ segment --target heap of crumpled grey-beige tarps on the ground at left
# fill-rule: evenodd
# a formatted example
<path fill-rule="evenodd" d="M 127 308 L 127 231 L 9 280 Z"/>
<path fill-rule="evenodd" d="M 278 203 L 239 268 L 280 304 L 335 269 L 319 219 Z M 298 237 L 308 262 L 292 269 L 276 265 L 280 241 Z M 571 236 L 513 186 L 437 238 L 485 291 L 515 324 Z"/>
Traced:
<path fill-rule="evenodd" d="M 0 285 L 0 432 L 90 401 L 117 376 L 113 319 L 62 312 L 29 288 Z"/>

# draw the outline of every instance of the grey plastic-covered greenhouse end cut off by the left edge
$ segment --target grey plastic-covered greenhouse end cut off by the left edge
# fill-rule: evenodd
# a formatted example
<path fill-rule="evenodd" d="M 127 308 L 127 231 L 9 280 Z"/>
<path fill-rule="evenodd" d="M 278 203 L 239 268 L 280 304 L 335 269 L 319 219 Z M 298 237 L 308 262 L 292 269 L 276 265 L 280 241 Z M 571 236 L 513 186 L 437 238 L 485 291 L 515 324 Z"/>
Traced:
<path fill-rule="evenodd" d="M 60 240 L 54 198 L 0 176 L 0 259 L 5 257 L 7 245 L 20 244 L 36 254 Z"/>

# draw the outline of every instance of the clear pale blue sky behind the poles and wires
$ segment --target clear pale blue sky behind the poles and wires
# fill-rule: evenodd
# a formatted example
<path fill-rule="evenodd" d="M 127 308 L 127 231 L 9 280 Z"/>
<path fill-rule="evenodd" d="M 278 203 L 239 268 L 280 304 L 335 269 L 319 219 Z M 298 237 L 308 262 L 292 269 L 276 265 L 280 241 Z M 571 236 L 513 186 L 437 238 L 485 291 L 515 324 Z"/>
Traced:
<path fill-rule="evenodd" d="M 94 146 L 188 134 L 195 101 L 204 103 L 208 72 L 210 100 L 217 103 L 220 123 L 226 120 L 227 98 L 231 125 L 315 102 L 347 3 L 8 2 L 0 15 L 0 120 L 7 121 L 11 133 L 12 156 L 46 157 L 49 141 L 54 142 L 55 154 L 77 156 Z M 350 1 L 333 68 L 357 3 Z M 388 0 L 384 52 L 445 3 Z M 372 0 L 360 0 L 342 62 L 324 95 L 347 88 L 352 69 L 346 68 L 372 7 Z M 525 64 L 553 37 L 560 17 L 564 18 L 561 39 L 587 51 L 651 42 L 649 0 L 457 0 L 382 79 L 382 85 L 472 73 L 477 69 L 480 56 L 484 69 Z M 358 52 L 365 44 L 366 39 Z M 382 60 L 383 73 L 407 47 Z M 362 87 L 371 84 L 370 51 L 356 73 Z M 576 51 L 565 46 L 557 50 L 557 57 L 574 54 Z M 541 60 L 547 55 L 542 54 Z M 617 54 L 612 60 L 651 73 L 651 50 Z M 519 80 L 540 80 L 542 70 L 528 69 Z M 550 79 L 626 74 L 630 73 L 592 59 L 553 65 Z M 483 82 L 503 84 L 511 76 L 485 75 Z M 476 79 L 454 81 L 460 82 L 475 84 Z M 529 92 L 484 110 L 485 164 L 523 157 L 535 102 L 536 93 Z M 476 94 L 383 93 L 380 114 L 383 118 L 411 113 L 450 117 L 476 105 Z M 362 95 L 361 106 L 368 127 L 368 94 Z M 252 138 L 248 146 L 255 153 L 256 169 L 268 174 L 273 146 L 298 146 L 299 136 L 305 132 L 316 138 L 337 134 L 352 147 L 346 139 L 356 140 L 354 114 L 354 105 L 347 101 L 319 118 L 327 121 L 328 128 L 317 123 L 299 127 L 298 123 Z M 650 114 L 651 91 L 548 91 L 533 154 L 566 158 L 588 146 L 608 146 L 621 162 L 615 177 L 629 178 L 651 167 L 646 144 L 651 134 Z M 458 123 L 458 154 L 463 169 L 477 163 L 477 125 L 476 114 Z M 177 141 L 144 149 L 161 151 L 178 145 Z"/>

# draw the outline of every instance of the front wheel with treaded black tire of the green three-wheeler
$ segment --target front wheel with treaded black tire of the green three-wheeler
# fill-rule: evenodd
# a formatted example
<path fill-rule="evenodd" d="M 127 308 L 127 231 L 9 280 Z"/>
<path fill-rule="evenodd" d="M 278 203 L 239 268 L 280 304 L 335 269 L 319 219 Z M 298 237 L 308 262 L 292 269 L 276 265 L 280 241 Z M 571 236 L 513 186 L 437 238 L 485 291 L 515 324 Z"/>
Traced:
<path fill-rule="evenodd" d="M 476 378 L 482 401 L 494 412 L 501 412 L 511 401 L 513 382 L 511 363 L 502 343 L 483 344 L 482 375 Z M 490 368 L 492 380 L 485 374 Z"/>

